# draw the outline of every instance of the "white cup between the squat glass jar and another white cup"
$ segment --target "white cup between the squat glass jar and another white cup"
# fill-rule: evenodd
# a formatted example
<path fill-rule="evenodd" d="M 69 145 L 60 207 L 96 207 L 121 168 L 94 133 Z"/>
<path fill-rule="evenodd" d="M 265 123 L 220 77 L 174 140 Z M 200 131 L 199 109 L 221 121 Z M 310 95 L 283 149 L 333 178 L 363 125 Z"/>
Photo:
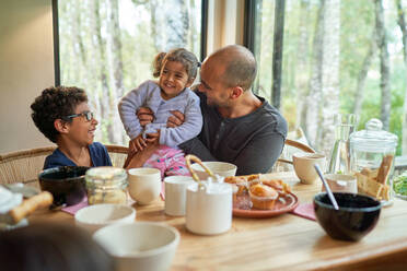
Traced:
<path fill-rule="evenodd" d="M 149 204 L 160 197 L 161 172 L 156 168 L 131 168 L 128 170 L 128 182 L 131 199 L 141 205 Z"/>

